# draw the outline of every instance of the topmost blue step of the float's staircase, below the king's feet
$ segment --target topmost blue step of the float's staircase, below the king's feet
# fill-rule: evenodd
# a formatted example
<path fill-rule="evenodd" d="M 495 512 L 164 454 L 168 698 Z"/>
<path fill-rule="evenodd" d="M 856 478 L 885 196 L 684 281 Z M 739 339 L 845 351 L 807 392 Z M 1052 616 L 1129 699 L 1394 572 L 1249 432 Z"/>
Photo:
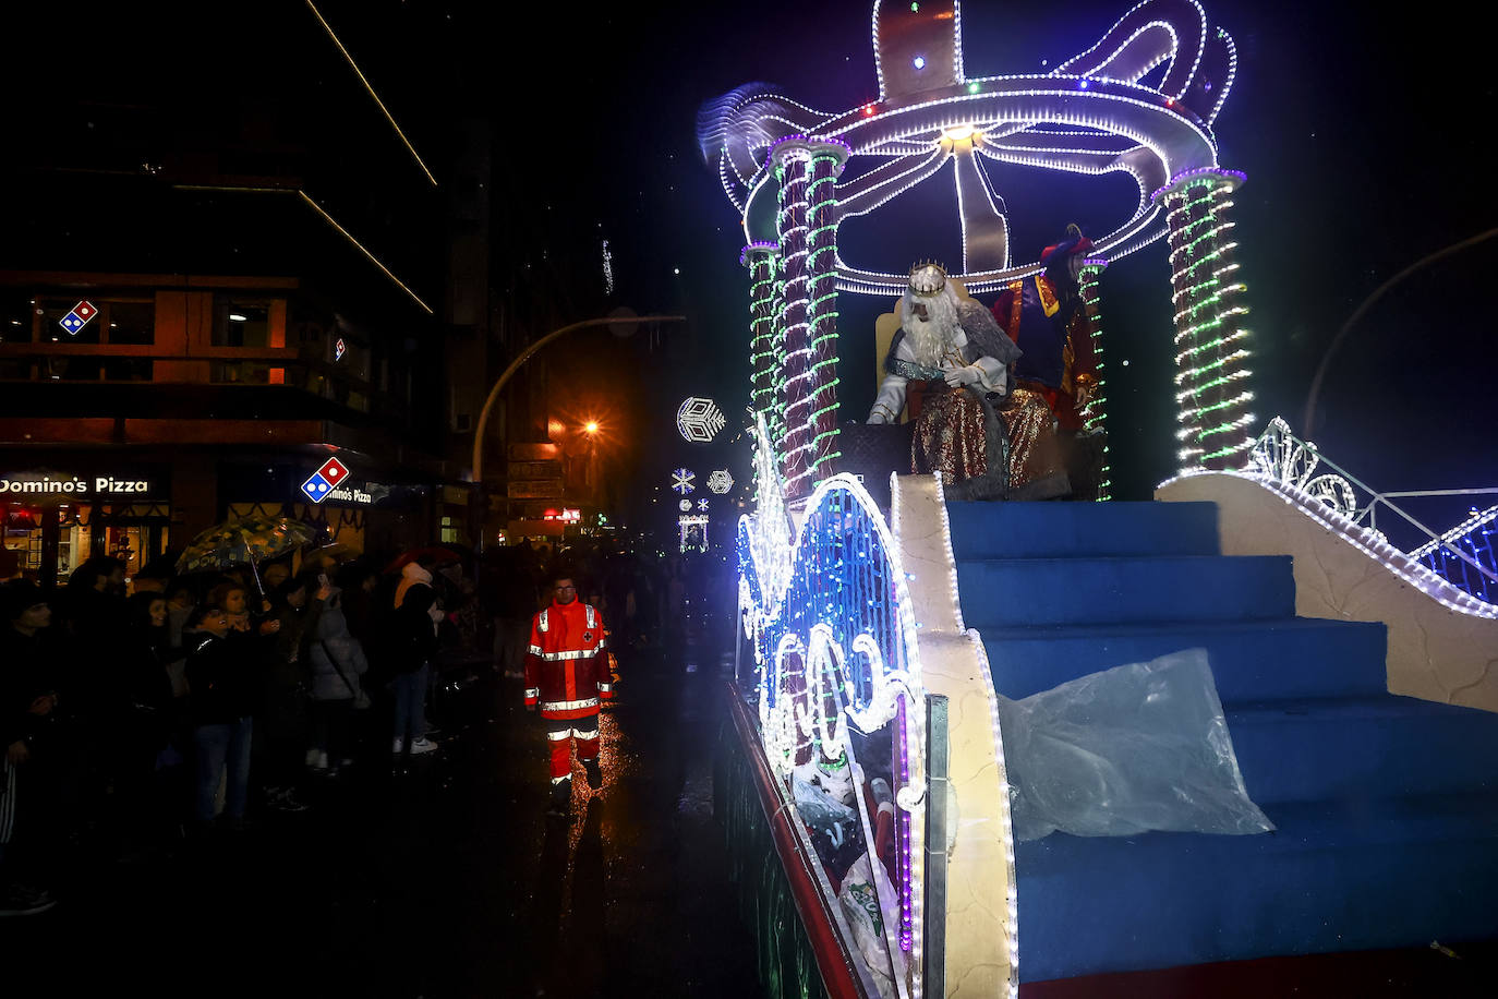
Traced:
<path fill-rule="evenodd" d="M 1215 556 L 1216 503 L 947 503 L 957 559 Z"/>

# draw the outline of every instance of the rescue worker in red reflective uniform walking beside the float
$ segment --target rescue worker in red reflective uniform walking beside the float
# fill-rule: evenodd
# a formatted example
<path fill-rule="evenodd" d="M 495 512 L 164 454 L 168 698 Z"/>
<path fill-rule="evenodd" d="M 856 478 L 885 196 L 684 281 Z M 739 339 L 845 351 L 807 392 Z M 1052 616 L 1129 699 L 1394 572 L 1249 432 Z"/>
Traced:
<path fill-rule="evenodd" d="M 614 696 L 604 643 L 604 617 L 577 599 L 571 575 L 556 575 L 551 605 L 530 622 L 526 655 L 526 708 L 541 708 L 551 744 L 551 810 L 562 813 L 572 801 L 572 743 L 598 789 L 598 707 Z"/>

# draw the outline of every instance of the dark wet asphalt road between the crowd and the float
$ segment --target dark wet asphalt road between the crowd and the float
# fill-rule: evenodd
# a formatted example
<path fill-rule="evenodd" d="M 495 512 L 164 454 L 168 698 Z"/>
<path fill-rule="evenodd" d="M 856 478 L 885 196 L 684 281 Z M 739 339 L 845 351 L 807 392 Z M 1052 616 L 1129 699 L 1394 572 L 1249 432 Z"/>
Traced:
<path fill-rule="evenodd" d="M 545 735 L 520 680 L 478 664 L 436 713 L 442 752 L 409 771 L 372 744 L 310 783 L 307 812 L 252 813 L 169 858 L 73 854 L 61 905 L 0 923 L 0 992 L 756 995 L 712 818 L 722 658 L 625 661 L 604 789 L 577 768 L 571 819 L 544 815 Z"/>

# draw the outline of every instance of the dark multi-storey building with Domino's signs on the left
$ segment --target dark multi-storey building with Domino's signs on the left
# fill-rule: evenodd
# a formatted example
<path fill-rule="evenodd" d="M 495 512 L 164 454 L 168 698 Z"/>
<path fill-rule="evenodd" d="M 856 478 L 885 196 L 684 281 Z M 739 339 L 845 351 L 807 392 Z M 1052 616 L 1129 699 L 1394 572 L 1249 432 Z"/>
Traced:
<path fill-rule="evenodd" d="M 421 87 L 397 105 L 312 4 L 243 15 L 99 7 L 87 52 L 9 63 L 0 503 L 43 580 L 256 509 L 354 550 L 472 541 L 488 126 L 439 105 L 403 130 L 388 108 L 448 78 L 394 78 Z M 348 476 L 313 502 L 328 458 Z"/>

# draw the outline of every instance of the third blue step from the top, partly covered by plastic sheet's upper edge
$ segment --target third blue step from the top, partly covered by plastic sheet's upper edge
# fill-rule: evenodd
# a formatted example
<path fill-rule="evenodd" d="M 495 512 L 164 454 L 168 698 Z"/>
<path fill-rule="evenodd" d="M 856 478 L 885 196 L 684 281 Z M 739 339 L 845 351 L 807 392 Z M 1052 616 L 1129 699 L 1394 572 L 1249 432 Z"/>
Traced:
<path fill-rule="evenodd" d="M 1375 696 L 1387 689 L 1386 628 L 1378 622 L 1285 617 L 989 628 L 983 631 L 983 643 L 993 668 L 993 687 L 1014 699 L 1183 649 L 1207 650 L 1224 701 Z"/>

